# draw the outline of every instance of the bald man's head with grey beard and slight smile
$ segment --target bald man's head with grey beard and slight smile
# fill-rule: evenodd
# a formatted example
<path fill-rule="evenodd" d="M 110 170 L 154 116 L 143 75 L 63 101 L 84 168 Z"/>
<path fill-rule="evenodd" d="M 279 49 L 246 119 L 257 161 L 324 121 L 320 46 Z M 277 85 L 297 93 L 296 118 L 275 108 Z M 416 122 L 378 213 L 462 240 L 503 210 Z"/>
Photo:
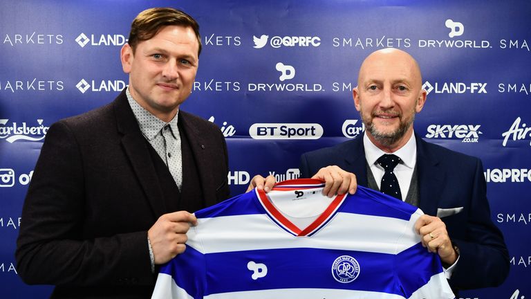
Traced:
<path fill-rule="evenodd" d="M 425 104 L 426 91 L 413 57 L 387 48 L 364 60 L 353 96 L 369 139 L 380 149 L 394 152 L 413 134 L 411 125 Z"/>

